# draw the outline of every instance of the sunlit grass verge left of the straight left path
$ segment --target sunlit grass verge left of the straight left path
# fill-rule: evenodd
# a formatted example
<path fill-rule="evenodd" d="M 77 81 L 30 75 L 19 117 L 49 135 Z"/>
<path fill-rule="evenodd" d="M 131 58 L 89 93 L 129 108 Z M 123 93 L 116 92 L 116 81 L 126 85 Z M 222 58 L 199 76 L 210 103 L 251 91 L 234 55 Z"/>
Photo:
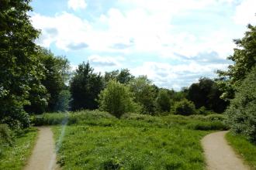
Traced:
<path fill-rule="evenodd" d="M 19 134 L 12 146 L 5 146 L 0 157 L 0 169 L 22 169 L 36 141 L 37 131 L 29 128 Z"/>

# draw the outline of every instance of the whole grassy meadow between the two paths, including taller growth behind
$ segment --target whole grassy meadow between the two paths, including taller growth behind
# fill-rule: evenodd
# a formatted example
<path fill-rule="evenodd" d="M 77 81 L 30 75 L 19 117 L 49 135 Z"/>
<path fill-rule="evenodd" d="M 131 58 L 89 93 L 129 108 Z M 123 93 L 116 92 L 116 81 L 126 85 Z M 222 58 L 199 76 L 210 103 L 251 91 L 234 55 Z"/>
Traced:
<path fill-rule="evenodd" d="M 200 140 L 226 129 L 223 118 L 125 114 L 117 119 L 85 110 L 44 114 L 36 124 L 54 125 L 57 159 L 63 169 L 203 169 Z"/>

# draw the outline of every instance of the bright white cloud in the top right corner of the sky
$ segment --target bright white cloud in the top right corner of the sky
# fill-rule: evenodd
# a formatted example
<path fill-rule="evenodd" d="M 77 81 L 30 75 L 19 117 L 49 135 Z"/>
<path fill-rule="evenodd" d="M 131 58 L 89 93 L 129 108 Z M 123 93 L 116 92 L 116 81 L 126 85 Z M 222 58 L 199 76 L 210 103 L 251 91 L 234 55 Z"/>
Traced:
<path fill-rule="evenodd" d="M 237 5 L 234 15 L 234 21 L 237 24 L 247 25 L 249 23 L 256 24 L 256 1 L 244 0 Z"/>

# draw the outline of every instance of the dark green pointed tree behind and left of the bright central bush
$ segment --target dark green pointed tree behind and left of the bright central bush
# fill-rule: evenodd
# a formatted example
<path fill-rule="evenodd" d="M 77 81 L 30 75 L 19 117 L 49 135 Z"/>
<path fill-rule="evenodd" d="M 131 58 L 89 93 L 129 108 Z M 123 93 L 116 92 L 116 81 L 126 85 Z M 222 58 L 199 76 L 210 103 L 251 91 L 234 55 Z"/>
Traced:
<path fill-rule="evenodd" d="M 93 73 L 89 63 L 81 63 L 71 79 L 71 109 L 96 109 L 96 99 L 103 88 L 100 74 Z"/>

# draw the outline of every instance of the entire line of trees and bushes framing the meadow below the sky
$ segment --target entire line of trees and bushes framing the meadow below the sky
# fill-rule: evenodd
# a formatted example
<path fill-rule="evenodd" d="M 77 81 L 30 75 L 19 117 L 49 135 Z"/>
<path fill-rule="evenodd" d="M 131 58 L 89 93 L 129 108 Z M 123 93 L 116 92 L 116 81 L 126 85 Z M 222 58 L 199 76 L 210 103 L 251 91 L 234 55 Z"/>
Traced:
<path fill-rule="evenodd" d="M 233 64 L 219 77 L 206 77 L 181 91 L 157 87 L 147 76 L 129 70 L 95 73 L 81 63 L 71 74 L 69 61 L 36 45 L 29 0 L 1 0 L 0 5 L 0 123 L 26 128 L 30 114 L 57 110 L 101 109 L 120 117 L 141 114 L 228 115 L 232 131 L 256 141 L 256 27 L 248 26 L 228 59 Z M 226 109 L 227 108 L 227 109 Z"/>

